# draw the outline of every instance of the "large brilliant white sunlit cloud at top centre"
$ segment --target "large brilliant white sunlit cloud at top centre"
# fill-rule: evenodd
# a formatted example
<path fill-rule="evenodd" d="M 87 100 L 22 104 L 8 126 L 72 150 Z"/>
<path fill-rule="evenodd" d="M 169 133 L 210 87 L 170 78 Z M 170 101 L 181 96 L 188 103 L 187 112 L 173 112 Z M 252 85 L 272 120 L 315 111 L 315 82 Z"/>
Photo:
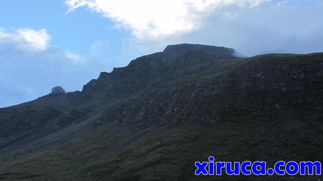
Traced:
<path fill-rule="evenodd" d="M 67 13 L 88 7 L 126 27 L 139 39 L 188 33 L 198 29 L 214 10 L 256 8 L 272 0 L 66 0 Z"/>

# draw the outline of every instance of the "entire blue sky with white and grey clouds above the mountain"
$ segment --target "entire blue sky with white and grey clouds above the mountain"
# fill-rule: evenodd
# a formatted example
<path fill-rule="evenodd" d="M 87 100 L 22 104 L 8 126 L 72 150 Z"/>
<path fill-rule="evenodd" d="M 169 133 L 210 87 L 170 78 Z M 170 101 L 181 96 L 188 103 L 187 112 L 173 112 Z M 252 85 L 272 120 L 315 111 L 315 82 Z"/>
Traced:
<path fill-rule="evenodd" d="M 245 56 L 323 52 L 321 0 L 3 0 L 0 108 L 169 44 L 225 46 Z"/>

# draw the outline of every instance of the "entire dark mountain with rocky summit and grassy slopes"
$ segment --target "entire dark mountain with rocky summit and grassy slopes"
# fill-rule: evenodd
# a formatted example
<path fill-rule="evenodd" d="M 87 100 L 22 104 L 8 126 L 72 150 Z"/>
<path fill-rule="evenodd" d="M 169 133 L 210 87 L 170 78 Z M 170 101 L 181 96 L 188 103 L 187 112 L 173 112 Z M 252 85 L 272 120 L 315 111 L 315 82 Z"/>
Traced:
<path fill-rule="evenodd" d="M 208 156 L 323 161 L 323 53 L 237 54 L 169 45 L 81 92 L 0 109 L 0 179 L 317 180 L 194 175 Z"/>

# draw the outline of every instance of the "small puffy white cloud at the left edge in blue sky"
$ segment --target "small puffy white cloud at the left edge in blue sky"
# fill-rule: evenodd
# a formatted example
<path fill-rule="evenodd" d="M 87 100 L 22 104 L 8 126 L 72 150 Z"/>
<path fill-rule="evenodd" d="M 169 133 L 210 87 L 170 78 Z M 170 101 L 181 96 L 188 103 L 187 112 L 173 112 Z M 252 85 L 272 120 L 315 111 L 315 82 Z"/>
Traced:
<path fill-rule="evenodd" d="M 0 28 L 0 45 L 12 46 L 21 51 L 44 51 L 49 47 L 50 38 L 46 29 L 32 30 L 23 28 L 6 31 L 4 28 Z"/>

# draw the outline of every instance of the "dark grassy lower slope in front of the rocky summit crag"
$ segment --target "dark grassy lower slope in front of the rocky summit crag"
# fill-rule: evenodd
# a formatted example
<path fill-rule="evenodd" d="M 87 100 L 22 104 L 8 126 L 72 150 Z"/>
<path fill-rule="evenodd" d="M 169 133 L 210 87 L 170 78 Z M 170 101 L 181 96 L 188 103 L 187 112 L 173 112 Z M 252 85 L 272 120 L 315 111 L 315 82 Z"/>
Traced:
<path fill-rule="evenodd" d="M 181 76 L 156 79 L 133 99 L 107 105 L 103 116 L 88 118 L 78 131 L 67 128 L 67 132 L 75 132 L 69 137 L 62 134 L 61 139 L 36 150 L 6 156 L 0 160 L 0 178 L 211 180 L 215 178 L 193 175 L 194 161 L 204 161 L 209 155 L 222 161 L 264 160 L 267 164 L 278 160 L 323 161 L 323 87 L 317 62 L 322 62 L 321 54 L 263 55 L 186 67 L 180 70 Z M 282 70 L 277 68 L 282 65 L 288 65 L 287 70 L 279 74 Z M 304 65 L 308 67 L 304 71 L 307 79 L 294 78 L 294 70 L 302 70 Z M 255 67 L 259 69 L 252 72 Z M 262 75 L 258 76 L 259 72 Z M 280 76 L 269 76 L 275 73 Z M 282 91 L 282 82 L 291 89 Z M 305 88 L 294 89 L 296 85 Z M 221 87 L 225 91 L 219 92 Z M 155 103 L 149 109 L 142 106 L 151 100 Z M 159 108 L 159 104 L 164 105 Z M 168 113 L 167 108 L 179 111 Z M 110 118 L 119 112 L 129 118 Z M 141 112 L 146 117 L 140 116 Z"/>

